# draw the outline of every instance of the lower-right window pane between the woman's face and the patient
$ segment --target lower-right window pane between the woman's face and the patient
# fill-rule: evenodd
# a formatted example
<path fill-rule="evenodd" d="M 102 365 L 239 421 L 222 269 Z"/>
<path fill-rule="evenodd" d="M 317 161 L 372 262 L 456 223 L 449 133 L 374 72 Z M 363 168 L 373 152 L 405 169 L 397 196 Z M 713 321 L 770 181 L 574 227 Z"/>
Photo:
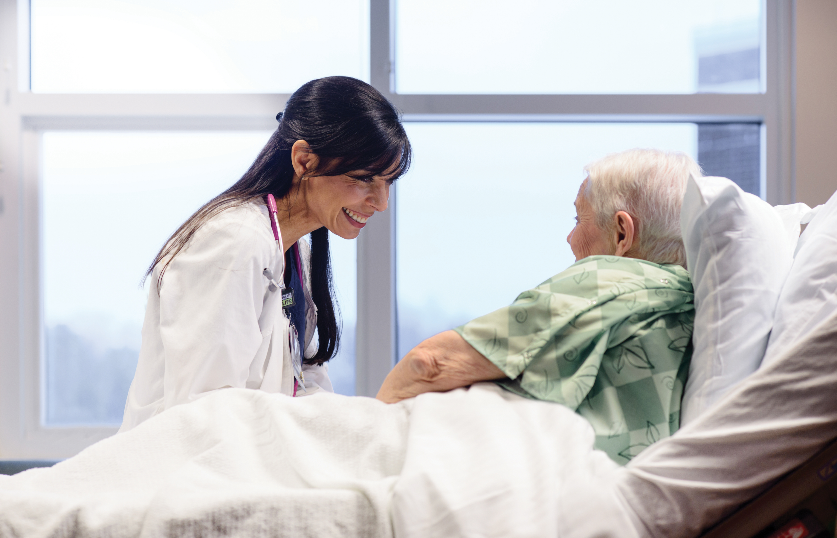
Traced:
<path fill-rule="evenodd" d="M 397 185 L 398 356 L 573 264 L 583 167 L 607 153 L 697 153 L 695 124 L 408 123 Z"/>

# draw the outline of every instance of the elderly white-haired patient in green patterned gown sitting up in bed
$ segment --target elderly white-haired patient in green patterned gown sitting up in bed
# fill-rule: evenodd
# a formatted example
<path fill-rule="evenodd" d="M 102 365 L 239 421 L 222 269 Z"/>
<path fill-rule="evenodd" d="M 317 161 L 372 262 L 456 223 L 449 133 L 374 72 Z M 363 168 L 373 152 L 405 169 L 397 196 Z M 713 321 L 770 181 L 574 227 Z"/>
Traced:
<path fill-rule="evenodd" d="M 576 263 L 423 341 L 378 399 L 496 380 L 577 411 L 618 464 L 676 431 L 694 320 L 680 203 L 700 168 L 682 153 L 631 150 L 585 171 L 567 236 Z"/>

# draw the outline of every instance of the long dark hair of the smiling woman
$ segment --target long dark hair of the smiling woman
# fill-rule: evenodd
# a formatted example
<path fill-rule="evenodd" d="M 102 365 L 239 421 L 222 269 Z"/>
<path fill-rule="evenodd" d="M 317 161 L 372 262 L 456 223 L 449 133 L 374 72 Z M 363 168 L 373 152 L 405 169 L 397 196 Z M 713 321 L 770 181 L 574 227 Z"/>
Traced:
<path fill-rule="evenodd" d="M 295 141 L 306 141 L 319 157 L 319 165 L 311 176 L 363 171 L 363 177 L 359 177 L 363 179 L 387 172 L 394 180 L 410 165 L 410 143 L 398 110 L 361 80 L 342 76 L 311 80 L 290 96 L 285 111 L 276 119 L 279 127 L 244 176 L 182 223 L 157 253 L 146 277 L 157 264 L 163 264 L 157 278 L 158 293 L 168 264 L 209 218 L 224 209 L 261 200 L 269 193 L 279 201 L 290 192 L 294 178 L 290 148 Z M 358 177 L 357 173 L 352 175 Z M 320 346 L 306 363 L 322 364 L 335 355 L 340 345 L 325 227 L 311 232 L 311 299 L 317 308 Z"/>

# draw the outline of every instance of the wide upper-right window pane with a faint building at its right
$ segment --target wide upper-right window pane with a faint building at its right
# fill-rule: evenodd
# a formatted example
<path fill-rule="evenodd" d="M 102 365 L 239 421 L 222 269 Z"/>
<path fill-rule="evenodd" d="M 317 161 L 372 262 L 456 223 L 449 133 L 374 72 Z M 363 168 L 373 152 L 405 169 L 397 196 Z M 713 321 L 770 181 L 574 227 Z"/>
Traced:
<path fill-rule="evenodd" d="M 760 0 L 398 0 L 404 94 L 760 91 Z"/>

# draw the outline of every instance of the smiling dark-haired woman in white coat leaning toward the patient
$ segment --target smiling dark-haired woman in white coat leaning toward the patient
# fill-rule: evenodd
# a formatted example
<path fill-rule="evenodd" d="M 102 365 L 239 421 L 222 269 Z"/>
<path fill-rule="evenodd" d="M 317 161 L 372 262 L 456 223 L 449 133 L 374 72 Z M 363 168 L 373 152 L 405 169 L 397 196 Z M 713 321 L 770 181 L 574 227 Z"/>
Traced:
<path fill-rule="evenodd" d="M 328 232 L 357 238 L 387 208 L 410 144 L 393 105 L 350 77 L 312 80 L 276 118 L 244 176 L 188 218 L 148 268 L 121 431 L 226 387 L 332 390 L 326 362 L 339 315 Z"/>

